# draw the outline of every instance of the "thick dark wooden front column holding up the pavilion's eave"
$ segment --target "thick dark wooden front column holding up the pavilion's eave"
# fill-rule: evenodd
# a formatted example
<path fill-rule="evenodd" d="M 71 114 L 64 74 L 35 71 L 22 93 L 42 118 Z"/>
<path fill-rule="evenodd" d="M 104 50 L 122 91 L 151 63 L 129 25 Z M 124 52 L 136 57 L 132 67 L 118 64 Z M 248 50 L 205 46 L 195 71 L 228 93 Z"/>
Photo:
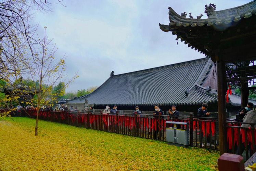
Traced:
<path fill-rule="evenodd" d="M 226 129 L 226 89 L 225 89 L 225 63 L 217 61 L 217 79 L 218 79 L 218 117 L 219 117 L 219 143 L 220 155 L 227 151 L 227 129 Z"/>

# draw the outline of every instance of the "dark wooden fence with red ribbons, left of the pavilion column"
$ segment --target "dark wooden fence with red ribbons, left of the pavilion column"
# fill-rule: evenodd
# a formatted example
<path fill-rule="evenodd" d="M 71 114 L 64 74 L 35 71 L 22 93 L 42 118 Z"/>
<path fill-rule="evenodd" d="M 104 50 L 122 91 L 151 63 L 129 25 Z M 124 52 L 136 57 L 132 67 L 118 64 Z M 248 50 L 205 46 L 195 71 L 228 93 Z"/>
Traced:
<path fill-rule="evenodd" d="M 36 113 L 36 110 L 21 111 L 22 116 L 32 118 L 36 118 Z M 188 122 L 190 146 L 218 150 L 218 131 L 216 131 L 218 118 L 193 117 L 192 112 L 186 114 L 189 114 L 189 116 L 175 116 L 175 118 L 171 118 L 165 115 L 153 116 L 149 114 L 140 116 L 130 113 L 104 114 L 102 111 L 82 113 L 40 110 L 39 119 L 160 141 L 166 141 L 165 128 L 173 127 L 171 124 L 166 123 L 167 120 Z M 186 126 L 181 126 L 180 129 L 186 129 L 185 127 Z M 207 143 L 210 145 L 207 146 Z M 214 147 L 212 145 L 214 145 Z"/>

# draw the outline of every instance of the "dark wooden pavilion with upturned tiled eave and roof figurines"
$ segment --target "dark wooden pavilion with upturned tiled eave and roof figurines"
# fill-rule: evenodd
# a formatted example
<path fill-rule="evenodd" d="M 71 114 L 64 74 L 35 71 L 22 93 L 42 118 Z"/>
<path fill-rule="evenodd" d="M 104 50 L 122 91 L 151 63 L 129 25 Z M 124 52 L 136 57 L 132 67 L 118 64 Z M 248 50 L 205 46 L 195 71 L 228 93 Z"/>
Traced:
<path fill-rule="evenodd" d="M 205 5 L 207 19 L 187 18 L 169 9 L 169 25 L 160 29 L 177 35 L 176 40 L 205 54 L 216 63 L 218 79 L 218 117 L 220 154 L 227 152 L 226 94 L 229 86 L 241 88 L 241 106 L 245 107 L 249 93 L 256 88 L 256 1 L 215 11 L 214 4 Z"/>

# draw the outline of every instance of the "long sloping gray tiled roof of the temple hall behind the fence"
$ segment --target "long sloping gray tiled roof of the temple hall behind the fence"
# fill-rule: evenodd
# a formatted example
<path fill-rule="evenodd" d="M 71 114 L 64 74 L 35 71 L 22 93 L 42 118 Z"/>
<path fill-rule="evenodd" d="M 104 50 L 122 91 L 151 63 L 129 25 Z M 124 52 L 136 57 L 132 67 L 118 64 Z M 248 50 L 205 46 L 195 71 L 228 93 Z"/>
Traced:
<path fill-rule="evenodd" d="M 68 103 L 117 105 L 192 105 L 217 100 L 216 91 L 206 93 L 202 83 L 213 67 L 210 58 L 187 61 L 108 78 L 91 94 Z M 185 97 L 185 89 L 190 93 Z"/>

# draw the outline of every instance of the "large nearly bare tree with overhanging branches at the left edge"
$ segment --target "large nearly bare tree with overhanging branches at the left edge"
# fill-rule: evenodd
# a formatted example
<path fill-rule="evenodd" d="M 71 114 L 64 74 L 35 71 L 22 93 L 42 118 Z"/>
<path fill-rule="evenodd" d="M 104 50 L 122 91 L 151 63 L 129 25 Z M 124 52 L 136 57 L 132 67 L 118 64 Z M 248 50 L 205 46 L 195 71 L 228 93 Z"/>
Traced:
<path fill-rule="evenodd" d="M 62 4 L 62 0 L 50 2 L 3 0 L 0 2 L 0 80 L 11 87 L 8 95 L 0 99 L 0 102 L 6 102 L 2 103 L 5 108 L 13 110 L 10 100 L 17 101 L 19 96 L 26 95 L 27 92 L 24 94 L 24 91 L 18 92 L 19 90 L 15 89 L 14 81 L 21 75 L 30 74 L 29 67 L 38 63 L 36 52 L 41 48 L 41 41 L 37 39 L 37 25 L 31 24 L 34 13 L 51 12 L 57 3 Z M 25 62 L 28 58 L 32 61 L 29 65 Z M 9 90 L 5 89 L 5 91 Z"/>

